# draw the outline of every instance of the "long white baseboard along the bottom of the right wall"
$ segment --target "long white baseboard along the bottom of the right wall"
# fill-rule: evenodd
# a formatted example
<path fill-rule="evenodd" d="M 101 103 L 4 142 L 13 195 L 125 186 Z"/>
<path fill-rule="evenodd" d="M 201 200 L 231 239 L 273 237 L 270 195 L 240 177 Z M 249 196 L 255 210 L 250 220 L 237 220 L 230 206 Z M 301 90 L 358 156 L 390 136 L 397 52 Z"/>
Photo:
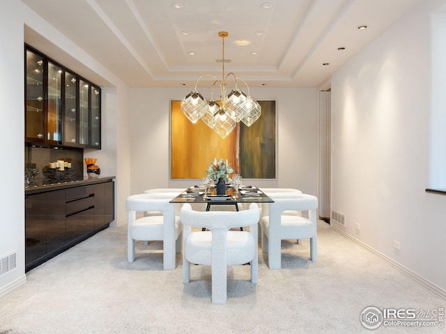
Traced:
<path fill-rule="evenodd" d="M 399 271 L 401 271 L 401 273 L 406 274 L 407 276 L 409 276 L 410 278 L 412 278 L 413 280 L 416 280 L 418 283 L 421 283 L 422 285 L 424 285 L 425 287 L 427 287 L 428 289 L 431 289 L 433 292 L 435 292 L 436 294 L 438 294 L 439 296 L 443 297 L 444 299 L 446 299 L 446 290 L 442 289 L 441 287 L 439 287 L 438 285 L 430 282 L 429 280 L 426 280 L 426 278 L 418 275 L 417 273 L 415 273 L 414 271 L 411 271 L 410 269 L 404 267 L 402 264 L 399 264 L 398 262 L 392 260 L 390 257 L 388 257 L 387 255 L 384 255 L 383 253 L 378 252 L 378 250 L 371 248 L 370 246 L 368 246 L 367 244 L 364 244 L 362 241 L 352 237 L 350 234 L 346 233 L 345 231 L 339 229 L 335 224 L 331 225 L 332 229 L 335 230 L 336 232 L 338 232 L 339 234 L 342 234 L 344 237 L 351 239 L 352 241 L 355 241 L 356 244 L 362 246 L 363 248 L 365 248 L 366 250 L 368 250 L 370 253 L 380 257 L 380 259 L 384 260 L 385 262 L 387 262 L 388 264 L 390 264 L 392 267 L 398 269 Z"/>

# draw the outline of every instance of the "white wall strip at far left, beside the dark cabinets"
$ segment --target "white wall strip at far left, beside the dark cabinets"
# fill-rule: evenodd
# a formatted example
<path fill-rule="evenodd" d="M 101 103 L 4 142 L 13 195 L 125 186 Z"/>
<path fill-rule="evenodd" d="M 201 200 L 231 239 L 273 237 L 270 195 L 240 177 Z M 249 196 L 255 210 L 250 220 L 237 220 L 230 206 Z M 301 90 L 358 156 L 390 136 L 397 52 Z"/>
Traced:
<path fill-rule="evenodd" d="M 23 23 L 15 1 L 7 2 L 0 10 L 0 257 L 17 253 L 17 269 L 0 278 L 0 296 L 25 280 Z"/>

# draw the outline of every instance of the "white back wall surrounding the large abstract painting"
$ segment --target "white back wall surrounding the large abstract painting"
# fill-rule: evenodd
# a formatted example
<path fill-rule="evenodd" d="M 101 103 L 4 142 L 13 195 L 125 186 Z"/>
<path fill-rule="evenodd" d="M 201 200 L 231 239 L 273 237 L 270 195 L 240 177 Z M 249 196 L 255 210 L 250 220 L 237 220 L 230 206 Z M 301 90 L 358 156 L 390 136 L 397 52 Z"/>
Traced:
<path fill-rule="evenodd" d="M 197 180 L 170 179 L 170 104 L 187 93 L 187 88 L 131 89 L 132 193 L 197 184 Z M 205 90 L 201 93 L 208 96 Z M 277 102 L 277 180 L 252 183 L 293 187 L 316 195 L 316 88 L 252 88 L 250 93 L 256 100 Z"/>

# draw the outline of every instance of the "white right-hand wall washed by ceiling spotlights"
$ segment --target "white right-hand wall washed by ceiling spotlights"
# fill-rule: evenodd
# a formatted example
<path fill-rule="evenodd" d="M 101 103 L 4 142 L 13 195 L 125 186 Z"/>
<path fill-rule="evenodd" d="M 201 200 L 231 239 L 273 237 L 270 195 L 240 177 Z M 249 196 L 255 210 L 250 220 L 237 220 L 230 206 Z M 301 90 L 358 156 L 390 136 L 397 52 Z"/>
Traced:
<path fill-rule="evenodd" d="M 425 189 L 430 14 L 444 5 L 424 1 L 334 75 L 331 161 L 332 209 L 346 214 L 345 232 L 443 291 L 446 196 Z"/>

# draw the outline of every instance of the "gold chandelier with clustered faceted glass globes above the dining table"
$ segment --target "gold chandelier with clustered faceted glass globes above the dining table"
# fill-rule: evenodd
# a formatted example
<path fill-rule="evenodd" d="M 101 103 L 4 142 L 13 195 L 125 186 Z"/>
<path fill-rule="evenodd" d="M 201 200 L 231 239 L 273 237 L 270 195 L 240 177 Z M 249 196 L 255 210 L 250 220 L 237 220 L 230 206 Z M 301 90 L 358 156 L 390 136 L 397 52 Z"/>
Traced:
<path fill-rule="evenodd" d="M 248 127 L 252 125 L 261 116 L 261 106 L 251 96 L 249 96 L 249 86 L 245 80 L 236 77 L 236 74 L 230 72 L 224 76 L 224 38 L 228 36 L 226 31 L 220 31 L 218 35 L 223 40 L 223 81 L 217 79 L 212 74 L 204 74 L 195 82 L 195 89 L 186 95 L 181 101 L 181 111 L 192 123 L 201 118 L 203 122 L 213 129 L 222 138 L 228 136 L 240 120 Z M 203 77 L 212 77 L 215 79 L 210 100 L 205 100 L 197 91 L 197 84 Z M 228 84 L 234 81 L 235 88 L 226 96 Z M 237 81 L 243 81 L 247 87 L 246 95 L 238 89 Z M 213 98 L 215 86 L 220 86 L 220 101 Z"/>

